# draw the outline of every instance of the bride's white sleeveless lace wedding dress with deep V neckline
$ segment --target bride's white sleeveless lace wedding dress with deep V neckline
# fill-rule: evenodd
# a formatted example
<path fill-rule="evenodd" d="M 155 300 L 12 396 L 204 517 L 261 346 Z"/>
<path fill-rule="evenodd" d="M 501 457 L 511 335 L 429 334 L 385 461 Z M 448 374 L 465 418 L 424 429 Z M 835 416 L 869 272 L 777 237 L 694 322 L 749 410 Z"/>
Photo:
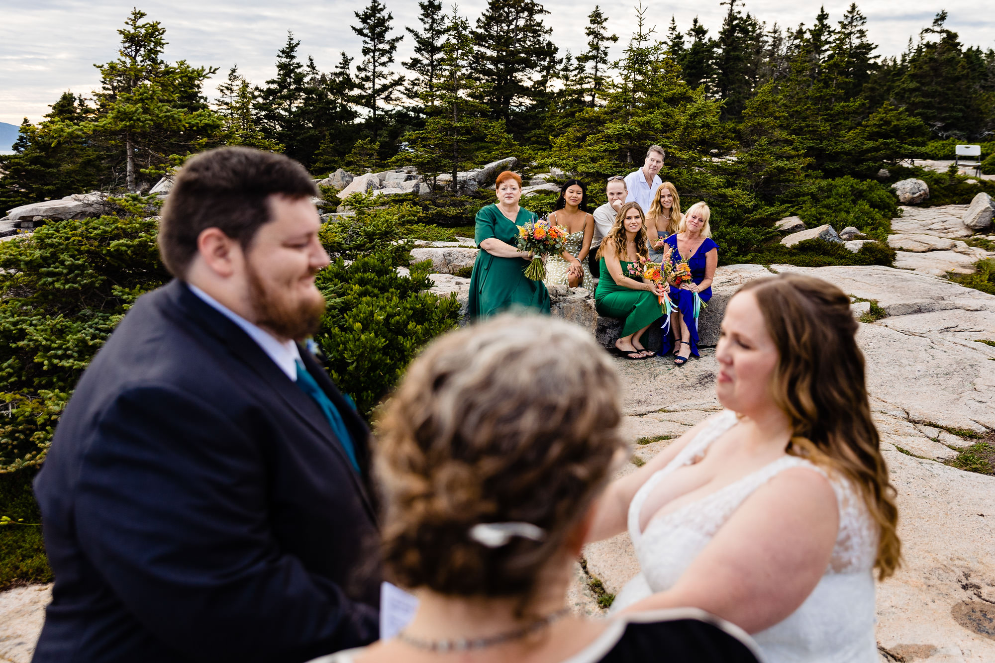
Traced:
<path fill-rule="evenodd" d="M 654 487 L 674 470 L 700 460 L 708 446 L 735 423 L 734 412 L 722 412 L 636 493 L 629 506 L 629 536 L 642 572 L 619 593 L 613 611 L 672 587 L 739 505 L 778 472 L 808 467 L 827 476 L 807 460 L 783 456 L 697 502 L 653 518 L 646 531 L 640 532 L 640 512 Z M 767 663 L 878 660 L 873 575 L 877 527 L 861 497 L 846 481 L 830 481 L 840 510 L 833 556 L 819 584 L 797 610 L 753 635 Z"/>

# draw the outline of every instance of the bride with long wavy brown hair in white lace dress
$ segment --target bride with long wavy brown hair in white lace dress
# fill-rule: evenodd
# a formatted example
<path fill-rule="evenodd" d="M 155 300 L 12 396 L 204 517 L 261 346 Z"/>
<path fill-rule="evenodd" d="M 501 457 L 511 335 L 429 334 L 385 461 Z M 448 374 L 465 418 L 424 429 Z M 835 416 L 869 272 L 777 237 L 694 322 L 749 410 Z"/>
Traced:
<path fill-rule="evenodd" d="M 875 568 L 900 557 L 850 300 L 780 275 L 729 302 L 715 349 L 726 408 L 617 480 L 588 541 L 628 528 L 642 572 L 613 610 L 695 606 L 768 663 L 874 663 Z"/>

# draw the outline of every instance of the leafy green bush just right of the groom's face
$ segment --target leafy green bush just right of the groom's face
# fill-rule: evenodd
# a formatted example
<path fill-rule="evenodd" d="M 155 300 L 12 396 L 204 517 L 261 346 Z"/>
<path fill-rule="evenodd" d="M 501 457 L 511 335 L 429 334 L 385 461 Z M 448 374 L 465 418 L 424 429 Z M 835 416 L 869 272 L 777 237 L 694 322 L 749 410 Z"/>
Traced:
<path fill-rule="evenodd" d="M 427 261 L 412 265 L 410 276 L 397 274 L 410 262 L 411 244 L 392 242 L 417 214 L 413 206 L 375 209 L 359 194 L 346 204 L 355 217 L 326 224 L 321 233 L 335 262 L 317 276 L 328 308 L 314 339 L 332 379 L 369 417 L 418 350 L 456 327 L 460 305 L 455 297 L 422 292 L 431 288 Z"/>

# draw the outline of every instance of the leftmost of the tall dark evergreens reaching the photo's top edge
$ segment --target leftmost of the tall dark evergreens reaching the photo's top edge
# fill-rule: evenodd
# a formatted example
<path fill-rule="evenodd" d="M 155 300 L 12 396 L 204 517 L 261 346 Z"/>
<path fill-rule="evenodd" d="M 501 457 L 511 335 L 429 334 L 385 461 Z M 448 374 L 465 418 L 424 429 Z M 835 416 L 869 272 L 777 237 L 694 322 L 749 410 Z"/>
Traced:
<path fill-rule="evenodd" d="M 363 61 L 356 67 L 356 83 L 361 91 L 358 99 L 360 106 L 370 110 L 370 127 L 376 142 L 380 104 L 396 101 L 398 89 L 404 83 L 404 77 L 396 76 L 388 69 L 394 63 L 394 51 L 404 35 L 390 36 L 394 16 L 380 0 L 370 0 L 366 9 L 353 14 L 359 25 L 351 26 L 352 32 L 363 40 Z"/>

